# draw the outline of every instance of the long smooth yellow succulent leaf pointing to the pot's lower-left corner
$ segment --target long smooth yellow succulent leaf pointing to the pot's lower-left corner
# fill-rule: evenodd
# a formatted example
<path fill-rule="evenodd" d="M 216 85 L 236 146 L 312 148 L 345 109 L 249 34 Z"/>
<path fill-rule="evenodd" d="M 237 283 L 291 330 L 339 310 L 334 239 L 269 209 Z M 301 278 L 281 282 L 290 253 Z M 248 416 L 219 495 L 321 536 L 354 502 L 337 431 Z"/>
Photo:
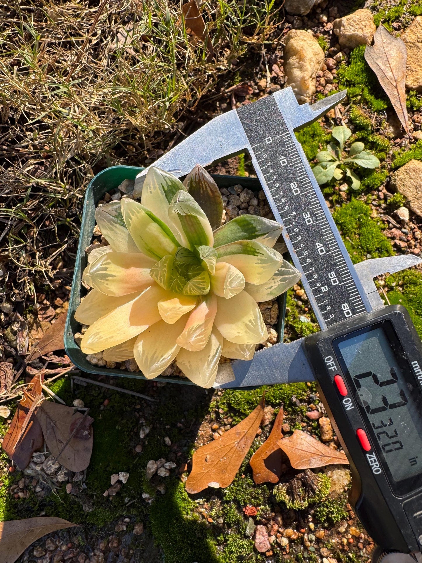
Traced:
<path fill-rule="evenodd" d="M 137 336 L 161 319 L 157 303 L 167 296 L 165 289 L 151 285 L 134 300 L 96 320 L 84 334 L 80 349 L 96 354 Z"/>

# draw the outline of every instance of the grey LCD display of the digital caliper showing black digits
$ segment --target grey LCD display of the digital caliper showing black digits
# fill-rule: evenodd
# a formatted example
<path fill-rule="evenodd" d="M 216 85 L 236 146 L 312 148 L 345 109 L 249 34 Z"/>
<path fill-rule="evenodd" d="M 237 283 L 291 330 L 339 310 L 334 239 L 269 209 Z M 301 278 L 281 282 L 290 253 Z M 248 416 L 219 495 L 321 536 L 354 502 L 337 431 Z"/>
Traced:
<path fill-rule="evenodd" d="M 366 427 L 396 484 L 422 473 L 422 393 L 390 321 L 333 342 Z"/>

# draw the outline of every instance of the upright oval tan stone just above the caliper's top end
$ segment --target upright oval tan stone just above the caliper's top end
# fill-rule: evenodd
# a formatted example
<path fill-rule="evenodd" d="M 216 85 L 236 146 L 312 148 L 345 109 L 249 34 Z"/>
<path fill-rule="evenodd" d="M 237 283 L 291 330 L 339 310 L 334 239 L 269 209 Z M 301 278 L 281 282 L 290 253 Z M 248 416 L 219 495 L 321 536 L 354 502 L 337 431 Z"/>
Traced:
<path fill-rule="evenodd" d="M 285 37 L 284 72 L 300 103 L 308 102 L 316 91 L 316 73 L 324 64 L 324 51 L 313 36 L 291 29 Z"/>

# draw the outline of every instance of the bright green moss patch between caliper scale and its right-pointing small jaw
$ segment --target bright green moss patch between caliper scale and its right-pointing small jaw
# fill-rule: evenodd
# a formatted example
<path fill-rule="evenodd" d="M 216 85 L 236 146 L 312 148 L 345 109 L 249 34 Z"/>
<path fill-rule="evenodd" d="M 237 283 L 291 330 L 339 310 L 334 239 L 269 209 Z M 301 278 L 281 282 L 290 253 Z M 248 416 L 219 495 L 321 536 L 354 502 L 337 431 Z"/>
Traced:
<path fill-rule="evenodd" d="M 394 255 L 391 243 L 382 233 L 385 226 L 380 220 L 371 218 L 369 205 L 352 199 L 337 209 L 333 216 L 354 263 L 365 260 L 368 254 L 371 258 Z"/>

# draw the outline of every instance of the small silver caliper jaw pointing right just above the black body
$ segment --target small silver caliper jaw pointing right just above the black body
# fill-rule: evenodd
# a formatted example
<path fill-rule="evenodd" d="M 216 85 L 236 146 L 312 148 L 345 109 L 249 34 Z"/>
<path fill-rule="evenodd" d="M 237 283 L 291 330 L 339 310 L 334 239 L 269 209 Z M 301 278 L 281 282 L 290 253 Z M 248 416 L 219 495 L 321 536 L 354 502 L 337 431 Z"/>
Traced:
<path fill-rule="evenodd" d="M 369 299 L 372 309 L 380 309 L 384 306 L 374 283 L 374 278 L 382 274 L 394 274 L 406 268 L 422 263 L 422 258 L 415 254 L 405 254 L 404 256 L 387 256 L 385 258 L 372 258 L 363 260 L 354 265 L 358 278 Z"/>

